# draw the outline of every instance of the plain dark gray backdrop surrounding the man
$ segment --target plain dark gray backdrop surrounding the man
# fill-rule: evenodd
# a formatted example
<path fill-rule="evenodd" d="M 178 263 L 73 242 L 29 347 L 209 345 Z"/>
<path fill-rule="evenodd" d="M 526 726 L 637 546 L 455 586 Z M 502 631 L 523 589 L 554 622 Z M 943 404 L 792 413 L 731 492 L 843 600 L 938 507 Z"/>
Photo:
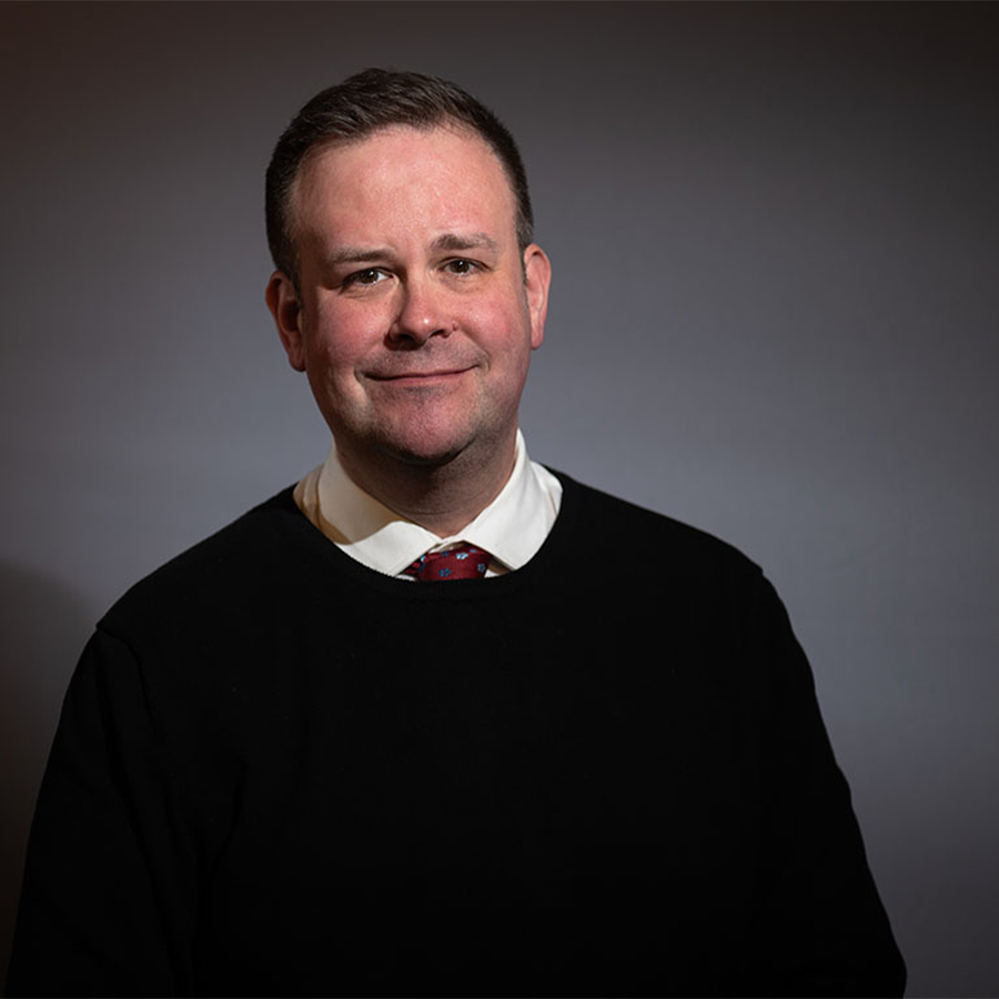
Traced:
<path fill-rule="evenodd" d="M 0 970 L 59 702 L 124 587 L 325 455 L 263 305 L 320 88 L 451 77 L 555 266 L 532 455 L 761 563 L 912 996 L 999 993 L 990 4 L 0 7 Z"/>

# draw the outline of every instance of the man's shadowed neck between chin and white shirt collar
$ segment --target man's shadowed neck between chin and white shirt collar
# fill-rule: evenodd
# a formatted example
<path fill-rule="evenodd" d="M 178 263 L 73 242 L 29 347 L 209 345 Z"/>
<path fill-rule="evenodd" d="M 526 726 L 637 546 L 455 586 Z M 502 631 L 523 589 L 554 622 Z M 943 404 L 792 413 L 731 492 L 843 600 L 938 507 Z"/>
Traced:
<path fill-rule="evenodd" d="M 460 454 L 414 464 L 391 455 L 354 455 L 337 446 L 341 464 L 365 493 L 438 537 L 460 534 L 500 495 L 516 462 L 516 436 L 485 462 Z"/>

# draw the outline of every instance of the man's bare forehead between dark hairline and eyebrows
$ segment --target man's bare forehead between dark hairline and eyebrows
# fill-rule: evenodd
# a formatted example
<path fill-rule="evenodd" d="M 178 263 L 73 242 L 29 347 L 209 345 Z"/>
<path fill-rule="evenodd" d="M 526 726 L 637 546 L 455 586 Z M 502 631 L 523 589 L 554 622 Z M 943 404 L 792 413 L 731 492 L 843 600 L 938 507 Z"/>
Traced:
<path fill-rule="evenodd" d="M 396 125 L 320 148 L 299 170 L 291 203 L 300 234 L 386 224 L 515 228 L 515 198 L 498 157 L 475 133 L 454 128 Z"/>

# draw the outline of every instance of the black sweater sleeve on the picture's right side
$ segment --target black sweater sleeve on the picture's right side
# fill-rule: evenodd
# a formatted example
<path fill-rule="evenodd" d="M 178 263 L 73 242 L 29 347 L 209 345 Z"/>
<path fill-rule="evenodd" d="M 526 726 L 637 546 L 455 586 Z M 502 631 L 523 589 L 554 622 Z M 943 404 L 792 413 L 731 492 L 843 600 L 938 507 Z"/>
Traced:
<path fill-rule="evenodd" d="M 905 965 L 878 897 L 810 667 L 766 581 L 750 630 L 771 678 L 764 708 L 768 848 L 745 995 L 901 996 Z"/>

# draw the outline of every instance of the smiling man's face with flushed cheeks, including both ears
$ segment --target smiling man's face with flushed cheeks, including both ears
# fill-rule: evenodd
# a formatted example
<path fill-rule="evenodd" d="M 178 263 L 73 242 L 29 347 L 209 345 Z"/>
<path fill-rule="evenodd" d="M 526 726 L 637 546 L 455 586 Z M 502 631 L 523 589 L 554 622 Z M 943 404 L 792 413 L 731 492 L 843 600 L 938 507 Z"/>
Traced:
<path fill-rule="evenodd" d="M 268 302 L 347 471 L 512 461 L 549 266 L 488 145 L 385 129 L 309 159 L 292 201 L 300 294 L 275 274 Z"/>

